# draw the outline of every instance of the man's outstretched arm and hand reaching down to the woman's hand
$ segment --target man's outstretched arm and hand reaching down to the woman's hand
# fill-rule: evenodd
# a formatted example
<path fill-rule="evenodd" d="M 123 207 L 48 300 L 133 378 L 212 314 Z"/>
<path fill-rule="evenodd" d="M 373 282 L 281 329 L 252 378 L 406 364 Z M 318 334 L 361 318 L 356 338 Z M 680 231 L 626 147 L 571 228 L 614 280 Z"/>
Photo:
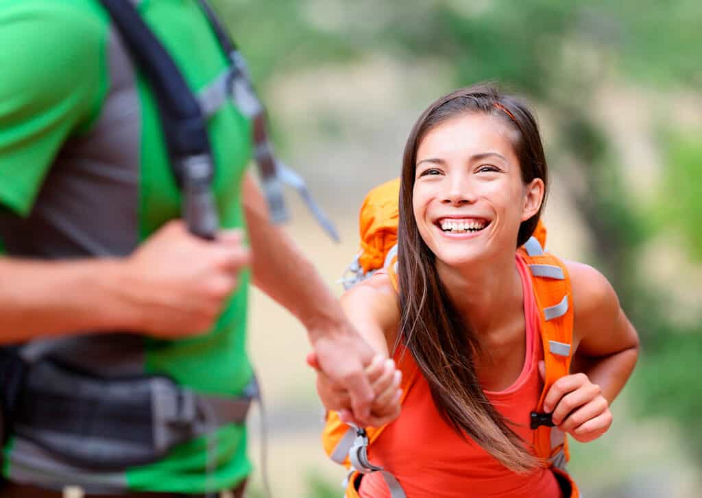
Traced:
<path fill-rule="evenodd" d="M 355 418 L 366 423 L 374 396 L 364 368 L 373 349 L 347 321 L 310 260 L 270 222 L 265 198 L 251 175 L 242 188 L 253 283 L 303 323 L 320 368 L 350 392 Z"/>

